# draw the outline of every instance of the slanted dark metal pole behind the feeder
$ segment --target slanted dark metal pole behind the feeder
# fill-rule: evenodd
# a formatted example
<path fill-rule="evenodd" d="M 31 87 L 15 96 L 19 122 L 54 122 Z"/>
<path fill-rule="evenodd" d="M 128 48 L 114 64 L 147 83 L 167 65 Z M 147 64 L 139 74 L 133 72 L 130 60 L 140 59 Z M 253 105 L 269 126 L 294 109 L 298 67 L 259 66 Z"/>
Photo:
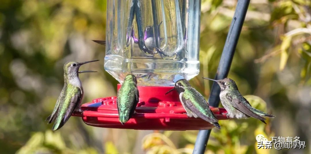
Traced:
<path fill-rule="evenodd" d="M 234 16 L 230 25 L 229 33 L 225 42 L 225 46 L 222 50 L 221 58 L 217 68 L 217 73 L 215 77 L 216 80 L 224 79 L 229 73 L 236 44 L 238 43 L 241 29 L 244 23 L 249 1 L 250 0 L 238 0 Z M 219 106 L 219 93 L 220 87 L 214 82 L 211 89 L 211 95 L 208 99 L 210 106 Z M 199 131 L 196 143 L 194 145 L 193 154 L 201 154 L 205 152 L 205 148 L 210 134 L 211 129 Z"/>

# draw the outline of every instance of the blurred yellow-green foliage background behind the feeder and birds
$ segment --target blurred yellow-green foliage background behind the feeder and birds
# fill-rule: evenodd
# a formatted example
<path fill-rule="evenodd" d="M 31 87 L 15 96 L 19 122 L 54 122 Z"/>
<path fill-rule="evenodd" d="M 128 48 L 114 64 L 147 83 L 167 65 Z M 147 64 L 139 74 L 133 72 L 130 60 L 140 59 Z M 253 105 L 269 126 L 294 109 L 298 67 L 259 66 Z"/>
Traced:
<path fill-rule="evenodd" d="M 200 74 L 190 82 L 208 98 L 236 0 L 202 0 Z M 252 0 L 229 77 L 251 104 L 276 118 L 220 121 L 206 153 L 310 153 L 311 2 Z M 192 153 L 198 131 L 87 126 L 72 117 L 55 132 L 45 118 L 63 87 L 66 61 L 100 62 L 81 70 L 85 97 L 116 95 L 104 71 L 106 0 L 0 1 L 0 153 Z M 255 136 L 300 137 L 306 148 L 258 150 Z"/>

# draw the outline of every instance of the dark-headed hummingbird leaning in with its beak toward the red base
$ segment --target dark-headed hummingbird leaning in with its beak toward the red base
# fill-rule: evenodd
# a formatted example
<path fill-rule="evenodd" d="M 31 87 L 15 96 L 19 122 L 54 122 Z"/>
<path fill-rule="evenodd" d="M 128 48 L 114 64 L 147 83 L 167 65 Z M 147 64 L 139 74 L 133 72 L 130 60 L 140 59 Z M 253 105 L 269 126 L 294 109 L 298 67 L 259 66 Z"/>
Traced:
<path fill-rule="evenodd" d="M 220 129 L 218 119 L 211 111 L 204 97 L 196 89 L 191 87 L 186 79 L 180 79 L 175 83 L 175 87 L 167 93 L 176 90 L 179 93 L 180 102 L 186 110 L 188 117 L 199 117 Z"/>

